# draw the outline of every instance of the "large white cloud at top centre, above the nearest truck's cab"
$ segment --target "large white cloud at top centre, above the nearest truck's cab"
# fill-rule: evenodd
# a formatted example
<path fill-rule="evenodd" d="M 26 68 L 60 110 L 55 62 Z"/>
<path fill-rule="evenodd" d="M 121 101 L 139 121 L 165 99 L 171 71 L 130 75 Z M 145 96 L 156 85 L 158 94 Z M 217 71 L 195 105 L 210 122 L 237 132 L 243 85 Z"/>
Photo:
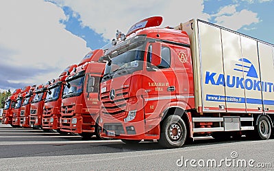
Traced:
<path fill-rule="evenodd" d="M 55 0 L 58 5 L 67 5 L 79 13 L 83 25 L 104 38 L 112 39 L 116 30 L 127 32 L 134 23 L 149 16 L 163 16 L 162 26 L 175 26 L 190 18 L 208 20 L 203 13 L 203 0 L 192 1 L 96 1 L 96 0 Z"/>

